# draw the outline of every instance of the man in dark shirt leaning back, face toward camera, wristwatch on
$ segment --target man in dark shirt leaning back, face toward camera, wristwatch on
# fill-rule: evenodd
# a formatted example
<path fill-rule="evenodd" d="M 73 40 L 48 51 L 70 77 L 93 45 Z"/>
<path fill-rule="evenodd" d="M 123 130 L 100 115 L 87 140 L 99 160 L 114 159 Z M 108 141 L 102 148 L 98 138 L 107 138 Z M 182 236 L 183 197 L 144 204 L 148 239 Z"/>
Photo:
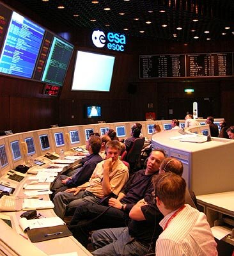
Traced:
<path fill-rule="evenodd" d="M 140 199 L 150 199 L 153 191 L 152 177 L 159 173 L 159 167 L 164 160 L 162 150 L 153 150 L 148 158 L 146 170 L 140 170 L 127 182 L 118 195 L 111 198 L 109 206 L 86 203 L 79 205 L 70 222 L 74 237 L 84 246 L 88 244 L 91 230 L 99 228 L 125 227 L 129 221 L 129 212 Z M 93 219 L 93 221 L 92 221 Z M 79 224 L 81 226 L 79 227 Z"/>

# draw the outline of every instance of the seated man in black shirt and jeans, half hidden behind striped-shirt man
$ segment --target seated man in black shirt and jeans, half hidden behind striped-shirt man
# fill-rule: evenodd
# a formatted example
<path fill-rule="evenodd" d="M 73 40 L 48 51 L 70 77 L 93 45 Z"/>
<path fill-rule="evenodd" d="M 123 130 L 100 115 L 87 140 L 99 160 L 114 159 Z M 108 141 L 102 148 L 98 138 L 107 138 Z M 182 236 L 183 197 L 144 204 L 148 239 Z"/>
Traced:
<path fill-rule="evenodd" d="M 183 173 L 183 164 L 178 159 L 168 157 L 160 165 L 159 173 Z M 191 196 L 187 195 L 185 202 L 191 203 Z M 192 202 L 192 206 L 194 206 Z M 195 206 L 194 206 L 195 207 Z M 155 241 L 162 232 L 159 225 L 163 215 L 155 205 L 155 198 L 145 202 L 140 200 L 132 207 L 128 227 L 107 228 L 93 232 L 91 241 L 97 248 L 93 255 L 145 255 L 155 248 Z M 168 254 L 169 255 L 169 254 Z"/>

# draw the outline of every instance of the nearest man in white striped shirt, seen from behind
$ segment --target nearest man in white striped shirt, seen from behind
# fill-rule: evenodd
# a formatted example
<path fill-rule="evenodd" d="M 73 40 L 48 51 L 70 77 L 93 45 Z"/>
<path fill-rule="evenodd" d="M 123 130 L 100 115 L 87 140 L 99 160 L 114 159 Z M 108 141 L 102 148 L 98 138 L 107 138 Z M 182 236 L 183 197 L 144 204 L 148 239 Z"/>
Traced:
<path fill-rule="evenodd" d="M 156 202 L 164 218 L 156 242 L 157 256 L 217 256 L 214 236 L 203 212 L 185 202 L 185 180 L 174 173 L 153 179 Z"/>

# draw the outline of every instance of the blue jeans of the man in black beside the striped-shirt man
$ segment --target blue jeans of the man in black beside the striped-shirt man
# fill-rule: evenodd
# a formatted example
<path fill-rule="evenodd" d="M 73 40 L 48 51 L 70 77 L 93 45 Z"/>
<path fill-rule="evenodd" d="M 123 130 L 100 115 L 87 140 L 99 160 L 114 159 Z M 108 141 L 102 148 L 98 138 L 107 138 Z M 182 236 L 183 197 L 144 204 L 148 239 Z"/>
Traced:
<path fill-rule="evenodd" d="M 143 256 L 149 248 L 129 235 L 129 228 L 105 228 L 93 232 L 95 256 Z"/>

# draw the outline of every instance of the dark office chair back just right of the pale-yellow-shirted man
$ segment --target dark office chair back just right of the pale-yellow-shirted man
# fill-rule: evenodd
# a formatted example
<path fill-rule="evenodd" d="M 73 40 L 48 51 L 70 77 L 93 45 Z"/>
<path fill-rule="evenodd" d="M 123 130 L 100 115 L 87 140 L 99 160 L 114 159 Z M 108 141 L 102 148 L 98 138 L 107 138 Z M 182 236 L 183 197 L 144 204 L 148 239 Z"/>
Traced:
<path fill-rule="evenodd" d="M 144 138 L 137 138 L 134 140 L 132 144 L 132 148 L 129 150 L 127 154 L 126 160 L 130 165 L 129 172 L 134 173 L 141 168 L 141 164 L 139 163 L 141 150 L 144 146 Z"/>

